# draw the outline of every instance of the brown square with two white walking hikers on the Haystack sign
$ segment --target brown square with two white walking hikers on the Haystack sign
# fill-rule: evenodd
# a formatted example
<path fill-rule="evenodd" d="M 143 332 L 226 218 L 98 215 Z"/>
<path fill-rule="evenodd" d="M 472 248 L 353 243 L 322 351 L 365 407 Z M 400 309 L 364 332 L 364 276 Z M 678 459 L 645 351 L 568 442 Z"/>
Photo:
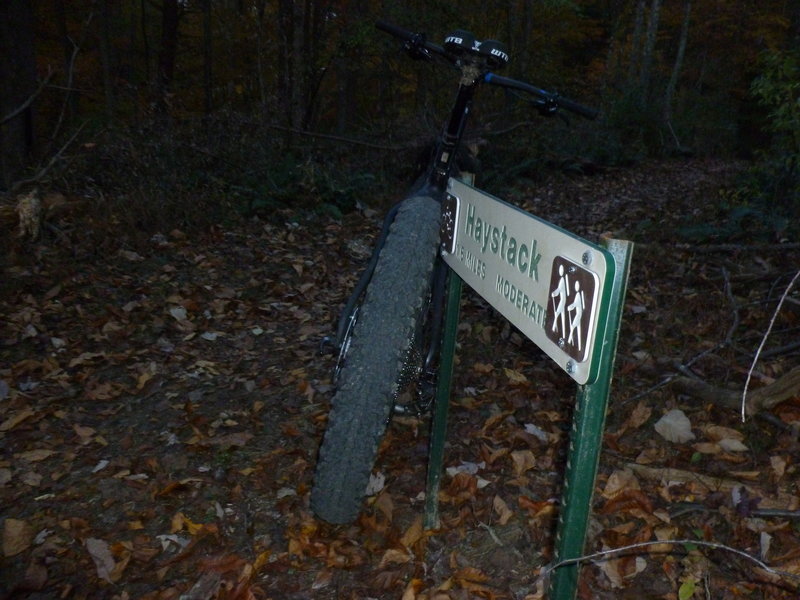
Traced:
<path fill-rule="evenodd" d="M 583 266 L 562 256 L 553 259 L 545 333 L 577 361 L 588 356 L 595 281 L 595 274 Z"/>

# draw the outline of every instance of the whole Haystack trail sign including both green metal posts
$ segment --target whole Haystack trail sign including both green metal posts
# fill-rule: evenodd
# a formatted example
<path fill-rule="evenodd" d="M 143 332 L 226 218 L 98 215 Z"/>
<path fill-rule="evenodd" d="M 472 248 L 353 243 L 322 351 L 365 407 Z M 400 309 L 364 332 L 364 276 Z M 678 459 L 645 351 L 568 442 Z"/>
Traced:
<path fill-rule="evenodd" d="M 462 279 L 578 383 L 556 569 L 549 597 L 574 600 L 602 446 L 633 244 L 590 244 L 451 180 L 442 244 L 451 267 L 442 355 L 431 424 L 425 526 L 439 526 L 444 459 Z"/>

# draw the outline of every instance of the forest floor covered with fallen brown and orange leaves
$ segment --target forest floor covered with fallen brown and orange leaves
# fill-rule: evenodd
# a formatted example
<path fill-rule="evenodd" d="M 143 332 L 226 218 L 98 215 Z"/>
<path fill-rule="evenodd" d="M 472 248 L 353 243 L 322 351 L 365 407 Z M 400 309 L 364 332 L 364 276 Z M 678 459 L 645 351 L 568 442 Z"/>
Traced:
<path fill-rule="evenodd" d="M 587 239 L 637 243 L 587 552 L 696 542 L 595 557 L 582 600 L 797 597 L 800 396 L 742 424 L 677 385 L 741 391 L 800 264 L 797 245 L 713 239 L 738 166 L 651 162 L 511 198 Z M 380 215 L 293 218 L 165 231 L 110 254 L 59 223 L 8 261 L 0 597 L 542 597 L 576 385 L 472 292 L 440 529 L 422 528 L 424 419 L 390 425 L 384 486 L 356 523 L 310 514 L 332 393 L 320 341 Z M 679 233 L 702 223 L 706 240 Z M 797 366 L 799 328 L 795 291 L 752 388 Z M 655 424 L 673 410 L 689 429 L 670 442 Z"/>

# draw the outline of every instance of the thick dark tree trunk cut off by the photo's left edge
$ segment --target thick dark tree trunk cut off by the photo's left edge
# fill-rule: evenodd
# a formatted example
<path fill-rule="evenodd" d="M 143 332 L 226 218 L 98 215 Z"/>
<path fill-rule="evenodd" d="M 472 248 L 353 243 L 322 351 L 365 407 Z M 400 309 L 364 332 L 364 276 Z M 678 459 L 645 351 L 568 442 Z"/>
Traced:
<path fill-rule="evenodd" d="M 28 164 L 34 150 L 33 107 L 19 110 L 36 91 L 33 39 L 29 0 L 0 2 L 0 184 L 4 188 Z"/>

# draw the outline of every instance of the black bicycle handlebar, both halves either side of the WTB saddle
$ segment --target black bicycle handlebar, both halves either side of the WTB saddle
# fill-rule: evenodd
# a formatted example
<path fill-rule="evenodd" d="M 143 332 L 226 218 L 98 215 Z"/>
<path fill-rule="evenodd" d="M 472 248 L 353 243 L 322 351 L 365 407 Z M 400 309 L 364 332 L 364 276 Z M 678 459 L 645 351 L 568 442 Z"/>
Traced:
<path fill-rule="evenodd" d="M 393 25 L 392 23 L 387 23 L 386 21 L 377 21 L 375 27 L 405 42 L 406 49 L 415 58 L 429 57 L 430 53 L 433 53 L 446 58 L 450 62 L 456 62 L 455 56 L 449 54 L 441 46 L 427 41 L 424 34 L 414 33 L 402 27 L 398 27 L 397 25 Z M 583 106 L 582 104 L 559 96 L 553 92 L 548 92 L 529 83 L 525 83 L 524 81 L 518 81 L 510 77 L 501 77 L 500 75 L 489 72 L 484 75 L 483 81 L 504 88 L 520 90 L 536 96 L 541 100 L 540 107 L 544 109 L 545 113 L 554 113 L 557 109 L 563 108 L 564 110 L 568 110 L 586 119 L 596 119 L 600 114 L 600 111 L 594 108 Z"/>

